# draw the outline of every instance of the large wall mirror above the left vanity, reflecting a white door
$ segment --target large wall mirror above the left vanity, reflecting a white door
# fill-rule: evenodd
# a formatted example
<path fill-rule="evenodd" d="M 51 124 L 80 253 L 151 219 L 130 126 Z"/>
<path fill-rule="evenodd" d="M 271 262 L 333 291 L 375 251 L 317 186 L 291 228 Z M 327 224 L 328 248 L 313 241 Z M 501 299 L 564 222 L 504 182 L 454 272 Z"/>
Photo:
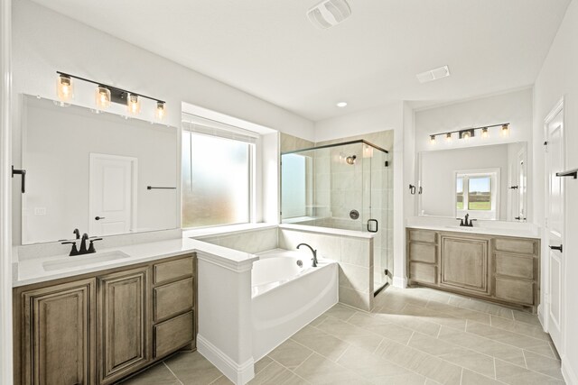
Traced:
<path fill-rule="evenodd" d="M 22 130 L 23 244 L 179 226 L 176 127 L 23 96 Z"/>

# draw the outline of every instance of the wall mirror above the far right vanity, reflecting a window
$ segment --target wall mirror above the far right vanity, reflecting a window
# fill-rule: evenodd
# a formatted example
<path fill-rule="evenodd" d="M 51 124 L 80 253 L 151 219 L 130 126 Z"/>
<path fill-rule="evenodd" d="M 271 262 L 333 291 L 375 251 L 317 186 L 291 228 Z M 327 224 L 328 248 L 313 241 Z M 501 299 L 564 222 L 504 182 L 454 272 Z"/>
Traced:
<path fill-rule="evenodd" d="M 527 221 L 527 143 L 419 153 L 419 215 Z"/>

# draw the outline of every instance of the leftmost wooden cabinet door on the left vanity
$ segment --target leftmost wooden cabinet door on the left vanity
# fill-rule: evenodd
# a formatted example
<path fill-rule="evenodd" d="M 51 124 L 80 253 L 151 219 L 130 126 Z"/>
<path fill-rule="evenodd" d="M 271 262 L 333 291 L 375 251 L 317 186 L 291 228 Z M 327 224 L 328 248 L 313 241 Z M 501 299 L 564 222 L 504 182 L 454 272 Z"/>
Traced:
<path fill-rule="evenodd" d="M 22 293 L 25 384 L 96 384 L 96 280 Z"/>

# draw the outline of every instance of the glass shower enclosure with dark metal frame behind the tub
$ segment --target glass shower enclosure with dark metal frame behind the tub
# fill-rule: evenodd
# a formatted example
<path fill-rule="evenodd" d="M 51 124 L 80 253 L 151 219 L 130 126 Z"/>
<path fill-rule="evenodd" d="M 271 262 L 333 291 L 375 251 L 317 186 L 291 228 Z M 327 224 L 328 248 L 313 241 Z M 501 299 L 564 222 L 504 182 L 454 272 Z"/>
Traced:
<path fill-rule="evenodd" d="M 374 291 L 392 277 L 388 152 L 359 140 L 281 154 L 281 222 L 376 233 Z"/>

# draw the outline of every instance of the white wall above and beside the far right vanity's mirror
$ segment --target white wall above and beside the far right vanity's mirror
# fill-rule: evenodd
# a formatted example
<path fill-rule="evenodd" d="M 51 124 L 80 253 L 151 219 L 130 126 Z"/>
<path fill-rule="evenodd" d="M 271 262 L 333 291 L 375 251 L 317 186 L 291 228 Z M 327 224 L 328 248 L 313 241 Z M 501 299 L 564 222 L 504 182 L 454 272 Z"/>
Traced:
<path fill-rule="evenodd" d="M 439 151 L 477 147 L 489 144 L 528 142 L 527 167 L 532 170 L 532 89 L 526 88 L 496 96 L 481 97 L 452 105 L 441 105 L 415 112 L 415 151 Z M 481 138 L 480 131 L 468 141 L 457 139 L 453 134 L 452 142 L 446 142 L 443 136 L 437 136 L 434 144 L 429 135 L 444 133 L 468 127 L 510 123 L 509 134 L 503 137 L 499 128 L 489 129 L 489 137 Z M 507 170 L 506 170 L 507 172 Z M 528 176 L 531 184 L 532 176 Z M 532 202 L 533 188 L 529 188 L 528 202 Z M 533 210 L 527 218 L 532 220 Z"/>

